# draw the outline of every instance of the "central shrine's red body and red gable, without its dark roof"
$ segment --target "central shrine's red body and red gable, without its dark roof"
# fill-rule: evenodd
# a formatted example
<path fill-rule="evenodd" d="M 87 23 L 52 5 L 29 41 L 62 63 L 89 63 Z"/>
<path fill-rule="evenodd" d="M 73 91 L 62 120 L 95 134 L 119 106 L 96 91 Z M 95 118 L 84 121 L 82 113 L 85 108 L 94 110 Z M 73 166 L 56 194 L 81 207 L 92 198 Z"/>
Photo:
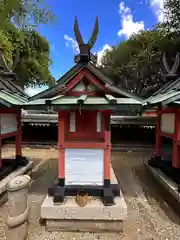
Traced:
<path fill-rule="evenodd" d="M 97 86 L 99 86 L 99 88 Z M 84 88 L 87 89 L 88 87 L 94 90 L 84 90 Z M 80 90 L 80 88 L 82 88 L 82 90 Z M 109 104 L 106 102 L 105 107 L 102 108 L 98 102 L 105 99 L 105 94 L 112 92 L 105 89 L 103 82 L 101 83 L 100 79 L 87 70 L 80 71 L 75 78 L 72 78 L 62 92 L 65 94 L 64 100 L 62 101 L 68 101 L 69 98 L 78 100 L 75 107 L 72 105 L 67 106 L 66 110 L 58 109 L 58 106 L 54 107 L 58 112 L 59 168 L 57 183 L 58 186 L 61 187 L 61 190 L 59 188 L 61 193 L 59 192 L 58 194 L 58 191 L 52 193 L 52 191 L 56 191 L 56 188 L 53 186 L 53 188 L 49 189 L 49 194 L 54 195 L 54 202 L 58 202 L 64 201 L 64 195 L 66 194 L 63 194 L 62 191 L 67 192 L 67 189 L 69 189 L 69 193 L 67 194 L 76 195 L 80 189 L 85 189 L 88 194 L 103 197 L 105 204 L 113 204 L 114 197 L 119 195 L 120 192 L 117 184 L 111 184 L 110 176 L 110 116 L 113 107 L 108 107 Z M 86 107 L 84 103 L 88 99 L 91 100 L 91 105 Z M 95 104 L 95 101 L 97 101 L 97 104 Z M 94 104 L 92 105 L 93 102 Z M 82 165 L 78 163 L 83 149 L 85 155 L 89 154 L 88 150 L 91 151 L 91 153 L 95 150 L 101 151 L 103 156 L 102 171 L 100 168 L 97 169 L 97 165 L 93 166 L 93 164 L 97 164 L 98 162 L 98 156 L 95 156 L 95 153 L 94 157 L 96 158 L 96 162 L 93 161 L 91 157 L 87 160 L 89 161 L 87 163 L 84 156 L 84 163 Z M 71 153 L 69 153 L 70 157 L 67 157 L 69 150 L 71 151 Z M 74 154 L 77 155 L 78 160 L 73 156 Z M 72 158 L 74 163 L 70 163 L 69 158 Z M 80 175 L 79 170 L 77 171 L 77 175 L 73 177 L 73 172 L 76 172 L 75 167 L 72 167 L 72 171 L 68 173 L 68 171 L 71 170 L 71 167 L 67 170 L 68 164 L 79 164 L 78 168 L 83 168 L 84 174 Z M 92 171 L 93 168 L 99 171 L 99 176 Z M 79 177 L 77 177 L 78 174 Z M 102 181 L 99 179 L 101 174 L 103 174 Z M 89 177 L 85 175 L 89 175 Z M 110 192 L 106 193 L 105 189 Z"/>

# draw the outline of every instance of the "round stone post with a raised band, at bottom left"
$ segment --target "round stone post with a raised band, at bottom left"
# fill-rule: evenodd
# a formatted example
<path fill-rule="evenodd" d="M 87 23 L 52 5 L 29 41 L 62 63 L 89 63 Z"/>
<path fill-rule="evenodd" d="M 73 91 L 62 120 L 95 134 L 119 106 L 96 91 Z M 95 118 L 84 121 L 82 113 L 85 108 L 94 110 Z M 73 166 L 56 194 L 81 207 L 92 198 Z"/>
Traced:
<path fill-rule="evenodd" d="M 29 217 L 27 194 L 30 181 L 31 178 L 28 175 L 22 175 L 8 183 L 8 240 L 25 240 L 27 237 Z"/>

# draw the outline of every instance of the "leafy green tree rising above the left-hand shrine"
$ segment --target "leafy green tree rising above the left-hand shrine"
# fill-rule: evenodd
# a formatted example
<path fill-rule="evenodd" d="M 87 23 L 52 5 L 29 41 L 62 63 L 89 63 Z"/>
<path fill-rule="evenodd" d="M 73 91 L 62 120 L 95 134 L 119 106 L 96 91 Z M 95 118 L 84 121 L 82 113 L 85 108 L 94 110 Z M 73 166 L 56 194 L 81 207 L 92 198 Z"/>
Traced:
<path fill-rule="evenodd" d="M 21 87 L 55 84 L 49 71 L 49 43 L 35 30 L 53 19 L 50 8 L 40 0 L 0 1 L 0 48 Z"/>

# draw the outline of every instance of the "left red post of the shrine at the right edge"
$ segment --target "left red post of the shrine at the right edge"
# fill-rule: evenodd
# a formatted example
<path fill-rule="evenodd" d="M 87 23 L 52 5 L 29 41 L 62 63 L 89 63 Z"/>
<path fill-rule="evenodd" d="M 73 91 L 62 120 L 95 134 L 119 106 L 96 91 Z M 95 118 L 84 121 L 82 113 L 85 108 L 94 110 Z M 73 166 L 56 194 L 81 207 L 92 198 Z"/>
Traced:
<path fill-rule="evenodd" d="M 157 111 L 157 121 L 156 121 L 156 149 L 155 156 L 161 157 L 162 154 L 162 137 L 161 133 L 161 112 Z"/>

